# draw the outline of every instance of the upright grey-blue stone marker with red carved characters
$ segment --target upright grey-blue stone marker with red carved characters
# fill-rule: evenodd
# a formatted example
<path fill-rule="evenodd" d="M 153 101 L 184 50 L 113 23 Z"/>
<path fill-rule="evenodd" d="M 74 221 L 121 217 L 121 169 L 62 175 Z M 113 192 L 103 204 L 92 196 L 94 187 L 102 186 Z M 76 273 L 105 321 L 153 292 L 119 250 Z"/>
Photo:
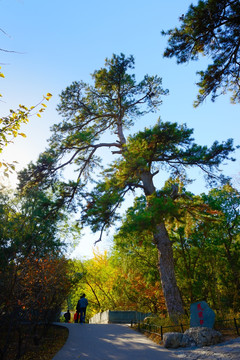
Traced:
<path fill-rule="evenodd" d="M 198 301 L 190 306 L 190 327 L 213 328 L 215 313 L 206 301 Z"/>

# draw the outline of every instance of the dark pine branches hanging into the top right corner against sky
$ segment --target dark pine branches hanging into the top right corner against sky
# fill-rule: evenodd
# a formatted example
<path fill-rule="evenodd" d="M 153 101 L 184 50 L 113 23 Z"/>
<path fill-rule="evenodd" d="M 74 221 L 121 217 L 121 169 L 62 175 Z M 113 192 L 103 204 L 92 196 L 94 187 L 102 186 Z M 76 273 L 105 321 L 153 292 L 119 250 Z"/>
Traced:
<path fill-rule="evenodd" d="M 168 36 L 165 57 L 176 57 L 178 63 L 208 56 L 212 63 L 199 71 L 199 94 L 195 106 L 211 94 L 232 92 L 231 100 L 240 101 L 240 1 L 201 0 L 190 5 L 180 17 L 179 28 L 163 31 Z"/>

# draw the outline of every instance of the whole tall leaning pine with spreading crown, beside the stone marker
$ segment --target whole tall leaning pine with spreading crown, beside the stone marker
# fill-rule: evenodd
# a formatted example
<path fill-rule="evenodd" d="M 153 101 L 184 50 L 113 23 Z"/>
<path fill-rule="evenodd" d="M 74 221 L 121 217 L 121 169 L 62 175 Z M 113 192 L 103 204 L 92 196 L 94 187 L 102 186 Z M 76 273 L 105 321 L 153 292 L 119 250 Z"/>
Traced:
<path fill-rule="evenodd" d="M 177 213 L 175 200 L 180 194 L 176 186 L 158 190 L 153 179 L 163 167 L 178 177 L 189 166 L 198 166 L 212 177 L 222 160 L 229 158 L 233 146 L 232 140 L 215 142 L 210 148 L 199 146 L 193 142 L 192 129 L 160 120 L 153 128 L 127 139 L 126 131 L 134 120 L 158 109 L 161 96 L 167 93 L 157 76 L 146 75 L 137 83 L 129 73 L 133 67 L 132 56 L 113 55 L 104 68 L 93 73 L 92 86 L 74 82 L 62 92 L 58 110 L 63 121 L 52 128 L 50 150 L 45 154 L 51 154 L 51 161 L 39 166 L 39 172 L 52 175 L 68 164 L 74 165 L 78 175 L 72 183 L 72 197 L 81 189 L 82 222 L 94 232 L 100 231 L 99 240 L 103 231 L 119 219 L 117 209 L 125 195 L 135 189 L 143 191 L 147 207 L 139 226 L 152 231 L 167 310 L 174 315 L 182 313 L 183 307 L 165 218 Z M 110 149 L 116 160 L 98 173 L 95 186 L 86 187 L 84 192 L 84 186 L 96 176 L 100 149 Z"/>

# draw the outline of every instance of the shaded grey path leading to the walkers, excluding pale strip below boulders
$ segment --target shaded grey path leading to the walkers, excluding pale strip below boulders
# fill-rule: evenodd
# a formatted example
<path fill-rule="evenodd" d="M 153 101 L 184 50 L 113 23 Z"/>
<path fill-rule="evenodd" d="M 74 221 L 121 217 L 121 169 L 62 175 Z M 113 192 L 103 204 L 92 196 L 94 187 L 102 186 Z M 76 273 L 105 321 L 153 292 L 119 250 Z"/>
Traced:
<path fill-rule="evenodd" d="M 64 326 L 69 329 L 69 337 L 53 360 L 176 359 L 170 350 L 161 348 L 127 325 L 69 323 Z"/>

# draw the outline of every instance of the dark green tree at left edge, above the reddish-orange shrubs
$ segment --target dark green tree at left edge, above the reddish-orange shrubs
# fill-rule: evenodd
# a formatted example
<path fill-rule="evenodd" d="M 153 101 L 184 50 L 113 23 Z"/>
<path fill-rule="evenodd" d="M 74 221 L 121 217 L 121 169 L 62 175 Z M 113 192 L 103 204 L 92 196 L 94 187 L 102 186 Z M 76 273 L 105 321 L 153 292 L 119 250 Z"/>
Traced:
<path fill-rule="evenodd" d="M 56 193 L 36 187 L 14 198 L 0 195 L 0 284 L 1 293 L 14 281 L 14 266 L 34 253 L 41 259 L 49 254 L 61 256 L 66 250 L 66 237 L 79 229 L 68 221 L 68 214 Z M 68 224 L 68 233 L 65 223 Z M 63 231 L 62 231 L 63 229 Z M 7 274 L 7 275 L 6 275 Z M 11 275 L 12 274 L 12 275 Z M 9 286 L 11 288 L 11 286 Z"/>

